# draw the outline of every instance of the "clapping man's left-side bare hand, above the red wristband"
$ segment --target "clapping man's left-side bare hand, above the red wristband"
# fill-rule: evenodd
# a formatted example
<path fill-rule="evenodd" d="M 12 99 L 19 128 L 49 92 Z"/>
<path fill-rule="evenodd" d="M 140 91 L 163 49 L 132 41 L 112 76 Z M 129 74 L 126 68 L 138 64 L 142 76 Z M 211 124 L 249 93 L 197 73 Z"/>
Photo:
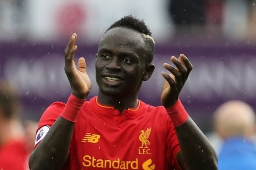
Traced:
<path fill-rule="evenodd" d="M 75 45 L 77 35 L 72 34 L 65 49 L 65 73 L 72 88 L 72 94 L 80 99 L 86 99 L 91 90 L 91 80 L 86 72 L 86 62 L 83 57 L 78 60 L 78 68 L 74 61 L 74 54 L 77 50 Z"/>

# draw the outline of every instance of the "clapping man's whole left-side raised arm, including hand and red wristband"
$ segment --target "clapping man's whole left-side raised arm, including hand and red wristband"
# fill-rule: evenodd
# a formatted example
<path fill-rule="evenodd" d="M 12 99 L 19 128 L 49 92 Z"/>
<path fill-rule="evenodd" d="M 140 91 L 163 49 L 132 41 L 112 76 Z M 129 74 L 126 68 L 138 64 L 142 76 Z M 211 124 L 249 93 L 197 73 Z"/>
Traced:
<path fill-rule="evenodd" d="M 30 170 L 60 170 L 68 158 L 76 118 L 91 90 L 91 81 L 86 73 L 84 58 L 79 58 L 78 68 L 74 62 L 74 54 L 77 50 L 77 46 L 74 45 L 76 38 L 77 35 L 74 33 L 65 49 L 65 73 L 71 85 L 72 94 L 60 117 L 31 154 Z"/>

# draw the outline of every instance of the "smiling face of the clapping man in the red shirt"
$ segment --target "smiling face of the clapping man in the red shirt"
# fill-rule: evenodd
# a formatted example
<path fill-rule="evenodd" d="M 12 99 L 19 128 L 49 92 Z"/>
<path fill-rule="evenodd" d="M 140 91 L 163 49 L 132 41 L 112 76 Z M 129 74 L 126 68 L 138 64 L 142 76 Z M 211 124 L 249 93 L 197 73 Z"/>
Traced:
<path fill-rule="evenodd" d="M 116 27 L 103 35 L 95 68 L 99 90 L 106 95 L 137 95 L 145 80 L 146 57 L 142 35 Z"/>

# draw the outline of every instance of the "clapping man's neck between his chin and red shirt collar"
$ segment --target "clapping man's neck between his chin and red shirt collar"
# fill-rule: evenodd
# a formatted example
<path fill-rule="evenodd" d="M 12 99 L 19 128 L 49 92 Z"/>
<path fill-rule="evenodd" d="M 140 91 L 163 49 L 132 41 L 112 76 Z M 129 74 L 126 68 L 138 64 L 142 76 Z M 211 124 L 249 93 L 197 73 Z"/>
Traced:
<path fill-rule="evenodd" d="M 125 109 L 135 108 L 138 105 L 138 94 L 128 95 L 128 96 L 113 96 L 103 94 L 99 90 L 98 102 L 103 105 L 114 106 L 115 109 L 118 109 L 122 113 Z"/>

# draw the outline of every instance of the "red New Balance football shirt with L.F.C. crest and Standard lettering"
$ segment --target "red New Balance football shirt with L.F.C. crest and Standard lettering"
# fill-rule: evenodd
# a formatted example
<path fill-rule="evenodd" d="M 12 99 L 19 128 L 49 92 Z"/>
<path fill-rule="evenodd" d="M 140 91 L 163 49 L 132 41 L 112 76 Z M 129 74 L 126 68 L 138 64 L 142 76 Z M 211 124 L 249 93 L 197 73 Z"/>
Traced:
<path fill-rule="evenodd" d="M 35 145 L 60 116 L 65 103 L 55 102 L 42 115 Z M 86 101 L 79 111 L 65 170 L 179 170 L 180 151 L 174 126 L 163 106 L 138 101 L 120 114 L 113 106 Z"/>

